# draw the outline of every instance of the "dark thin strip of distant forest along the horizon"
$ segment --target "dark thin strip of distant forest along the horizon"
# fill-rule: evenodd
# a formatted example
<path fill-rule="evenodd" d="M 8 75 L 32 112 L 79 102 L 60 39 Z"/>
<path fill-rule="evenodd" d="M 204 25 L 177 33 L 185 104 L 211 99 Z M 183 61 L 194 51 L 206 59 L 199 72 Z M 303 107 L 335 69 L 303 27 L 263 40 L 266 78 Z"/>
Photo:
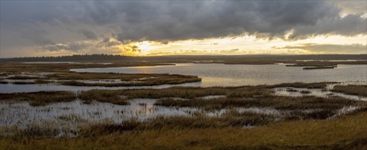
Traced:
<path fill-rule="evenodd" d="M 367 55 L 174 55 L 156 57 L 129 57 L 123 55 L 69 55 L 58 57 L 15 57 L 6 61 L 235 61 L 235 60 L 367 60 Z"/>

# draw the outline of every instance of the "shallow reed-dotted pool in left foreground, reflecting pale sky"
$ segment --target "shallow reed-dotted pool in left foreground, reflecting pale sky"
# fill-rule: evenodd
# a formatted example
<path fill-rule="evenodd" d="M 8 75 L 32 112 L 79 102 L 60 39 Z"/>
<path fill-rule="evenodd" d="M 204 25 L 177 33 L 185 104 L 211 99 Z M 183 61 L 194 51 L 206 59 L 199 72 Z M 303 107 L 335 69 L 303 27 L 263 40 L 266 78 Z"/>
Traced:
<path fill-rule="evenodd" d="M 30 106 L 28 102 L 0 102 L 0 126 L 27 127 L 30 123 L 55 121 L 60 124 L 93 123 L 112 121 L 121 123 L 127 119 L 149 119 L 159 115 L 190 115 L 197 108 L 170 108 L 155 106 L 155 99 L 134 99 L 129 105 L 105 102 L 84 104 L 80 100 L 58 102 L 46 106 Z"/>

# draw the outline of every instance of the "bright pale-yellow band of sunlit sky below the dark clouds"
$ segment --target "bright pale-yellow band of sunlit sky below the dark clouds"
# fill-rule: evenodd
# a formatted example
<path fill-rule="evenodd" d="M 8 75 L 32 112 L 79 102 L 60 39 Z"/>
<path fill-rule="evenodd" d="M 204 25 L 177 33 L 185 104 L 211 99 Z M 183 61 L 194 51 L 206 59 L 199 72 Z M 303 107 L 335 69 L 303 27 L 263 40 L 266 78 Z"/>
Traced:
<path fill-rule="evenodd" d="M 312 51 L 297 48 L 282 48 L 300 44 L 367 44 L 366 35 L 344 37 L 340 35 L 316 36 L 304 40 L 264 40 L 252 35 L 240 37 L 221 37 L 203 40 L 179 40 L 162 44 L 144 41 L 135 45 L 141 50 L 140 56 L 156 55 L 259 55 L 259 54 L 315 54 Z"/>

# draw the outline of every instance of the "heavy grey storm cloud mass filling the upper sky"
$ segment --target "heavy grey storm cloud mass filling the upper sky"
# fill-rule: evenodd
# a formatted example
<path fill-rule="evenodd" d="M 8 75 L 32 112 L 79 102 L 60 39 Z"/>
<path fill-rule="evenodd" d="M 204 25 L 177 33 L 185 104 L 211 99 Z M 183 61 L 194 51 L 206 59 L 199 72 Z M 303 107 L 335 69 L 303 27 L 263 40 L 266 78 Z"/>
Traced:
<path fill-rule="evenodd" d="M 106 46 L 153 40 L 238 35 L 298 40 L 366 34 L 366 17 L 340 17 L 330 1 L 0 1 L 1 49 L 108 40 Z M 290 33 L 290 31 L 292 31 Z M 6 42 L 7 44 L 3 44 Z M 84 48 L 87 46 L 84 46 Z M 49 48 L 58 50 L 60 48 Z M 136 50 L 136 48 L 131 48 Z"/>

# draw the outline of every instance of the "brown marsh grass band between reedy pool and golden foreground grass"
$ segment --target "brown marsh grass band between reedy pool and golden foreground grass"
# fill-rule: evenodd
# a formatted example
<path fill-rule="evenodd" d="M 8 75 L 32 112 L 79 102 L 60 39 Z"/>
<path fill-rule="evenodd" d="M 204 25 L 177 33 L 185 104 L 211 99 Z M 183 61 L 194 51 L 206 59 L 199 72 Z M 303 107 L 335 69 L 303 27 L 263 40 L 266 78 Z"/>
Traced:
<path fill-rule="evenodd" d="M 127 131 L 142 132 L 144 130 L 194 130 L 205 128 L 242 127 L 246 125 L 264 125 L 273 119 L 272 115 L 261 115 L 251 112 L 227 112 L 222 117 L 208 117 L 197 114 L 192 117 L 158 116 L 153 119 L 138 121 L 130 119 L 122 123 L 99 123 L 83 128 L 81 136 L 99 136 Z"/>

